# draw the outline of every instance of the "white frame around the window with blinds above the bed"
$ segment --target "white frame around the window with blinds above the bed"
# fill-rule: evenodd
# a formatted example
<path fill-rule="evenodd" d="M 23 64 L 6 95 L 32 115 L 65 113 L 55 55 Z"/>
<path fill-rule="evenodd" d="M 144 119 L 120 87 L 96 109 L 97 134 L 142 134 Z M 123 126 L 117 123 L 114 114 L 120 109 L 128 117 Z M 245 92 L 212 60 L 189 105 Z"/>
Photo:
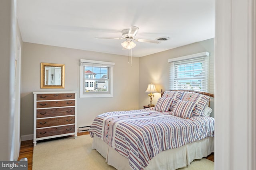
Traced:
<path fill-rule="evenodd" d="M 173 88 L 174 87 L 174 64 L 175 62 L 180 62 L 180 61 L 187 61 L 187 60 L 191 60 L 191 59 L 199 59 L 199 58 L 204 58 L 204 71 L 205 71 L 205 84 L 204 84 L 204 91 L 203 92 L 208 92 L 209 91 L 209 64 L 208 64 L 208 57 L 209 57 L 209 53 L 208 52 L 202 52 L 202 53 L 197 53 L 197 54 L 192 54 L 192 55 L 186 55 L 186 56 L 182 56 L 182 57 L 176 57 L 173 59 L 168 59 L 168 62 L 170 63 L 170 79 L 169 79 L 169 90 L 182 90 L 182 88 Z M 184 90 L 193 90 L 193 89 L 186 89 L 184 88 Z M 197 91 L 197 90 L 195 90 Z"/>

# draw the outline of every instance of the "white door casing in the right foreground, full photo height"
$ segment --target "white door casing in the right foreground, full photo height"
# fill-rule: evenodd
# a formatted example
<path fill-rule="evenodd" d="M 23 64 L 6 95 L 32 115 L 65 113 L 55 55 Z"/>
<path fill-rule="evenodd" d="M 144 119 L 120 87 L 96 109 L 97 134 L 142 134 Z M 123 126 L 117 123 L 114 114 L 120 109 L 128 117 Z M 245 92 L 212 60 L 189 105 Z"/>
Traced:
<path fill-rule="evenodd" d="M 216 0 L 215 170 L 256 169 L 256 0 Z"/>

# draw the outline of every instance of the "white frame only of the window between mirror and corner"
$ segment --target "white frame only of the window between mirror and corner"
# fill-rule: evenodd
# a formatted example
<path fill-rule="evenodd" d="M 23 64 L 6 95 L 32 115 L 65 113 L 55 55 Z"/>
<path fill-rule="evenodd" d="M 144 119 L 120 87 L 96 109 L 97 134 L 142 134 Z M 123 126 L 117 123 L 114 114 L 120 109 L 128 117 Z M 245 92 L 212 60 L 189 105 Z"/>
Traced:
<path fill-rule="evenodd" d="M 106 62 L 106 61 L 94 61 L 94 60 L 85 60 L 80 59 L 80 98 L 107 98 L 113 97 L 114 90 L 114 65 L 115 63 Z M 108 92 L 102 94 L 101 92 L 90 92 L 88 94 L 84 94 L 84 65 L 90 63 L 91 65 L 96 66 L 107 66 L 109 67 L 109 86 Z"/>

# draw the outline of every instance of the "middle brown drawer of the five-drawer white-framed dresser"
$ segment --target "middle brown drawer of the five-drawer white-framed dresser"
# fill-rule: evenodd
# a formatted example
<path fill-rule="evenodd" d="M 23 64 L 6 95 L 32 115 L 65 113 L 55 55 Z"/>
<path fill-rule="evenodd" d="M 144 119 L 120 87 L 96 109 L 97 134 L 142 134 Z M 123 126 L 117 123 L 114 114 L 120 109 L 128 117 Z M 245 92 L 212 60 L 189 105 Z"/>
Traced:
<path fill-rule="evenodd" d="M 56 109 L 37 109 L 36 118 L 74 115 L 75 107 L 64 107 Z"/>

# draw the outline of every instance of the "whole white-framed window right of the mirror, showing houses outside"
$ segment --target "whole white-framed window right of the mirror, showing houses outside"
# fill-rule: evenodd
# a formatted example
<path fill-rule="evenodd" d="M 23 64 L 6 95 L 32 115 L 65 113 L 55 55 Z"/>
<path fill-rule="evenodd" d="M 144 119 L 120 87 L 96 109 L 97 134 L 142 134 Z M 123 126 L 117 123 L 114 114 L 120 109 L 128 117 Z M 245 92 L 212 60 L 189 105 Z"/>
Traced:
<path fill-rule="evenodd" d="M 113 97 L 114 64 L 80 59 L 80 98 Z"/>

